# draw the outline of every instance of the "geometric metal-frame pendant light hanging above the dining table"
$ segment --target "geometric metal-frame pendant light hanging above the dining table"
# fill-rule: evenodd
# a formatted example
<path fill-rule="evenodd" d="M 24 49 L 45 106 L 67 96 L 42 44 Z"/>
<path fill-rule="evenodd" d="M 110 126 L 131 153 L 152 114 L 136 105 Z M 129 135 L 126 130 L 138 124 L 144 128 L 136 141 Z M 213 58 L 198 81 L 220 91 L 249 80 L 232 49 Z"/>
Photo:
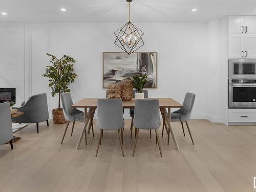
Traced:
<path fill-rule="evenodd" d="M 131 23 L 130 3 L 132 1 L 133 0 L 126 0 L 129 5 L 129 22 L 114 33 L 116 36 L 115 44 L 128 55 L 144 45 L 144 41 L 142 40 L 144 33 Z"/>

